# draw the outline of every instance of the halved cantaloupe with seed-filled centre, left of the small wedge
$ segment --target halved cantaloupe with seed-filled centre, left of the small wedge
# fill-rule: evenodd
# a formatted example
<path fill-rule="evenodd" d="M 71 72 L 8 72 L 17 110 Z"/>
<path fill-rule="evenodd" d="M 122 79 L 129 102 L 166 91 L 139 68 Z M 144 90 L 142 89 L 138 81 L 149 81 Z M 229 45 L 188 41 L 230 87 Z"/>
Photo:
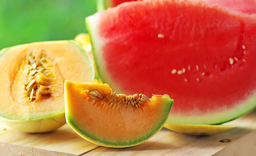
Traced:
<path fill-rule="evenodd" d="M 3 49 L 0 71 L 0 119 L 25 132 L 45 132 L 65 124 L 65 79 L 94 79 L 91 59 L 74 41 Z"/>

